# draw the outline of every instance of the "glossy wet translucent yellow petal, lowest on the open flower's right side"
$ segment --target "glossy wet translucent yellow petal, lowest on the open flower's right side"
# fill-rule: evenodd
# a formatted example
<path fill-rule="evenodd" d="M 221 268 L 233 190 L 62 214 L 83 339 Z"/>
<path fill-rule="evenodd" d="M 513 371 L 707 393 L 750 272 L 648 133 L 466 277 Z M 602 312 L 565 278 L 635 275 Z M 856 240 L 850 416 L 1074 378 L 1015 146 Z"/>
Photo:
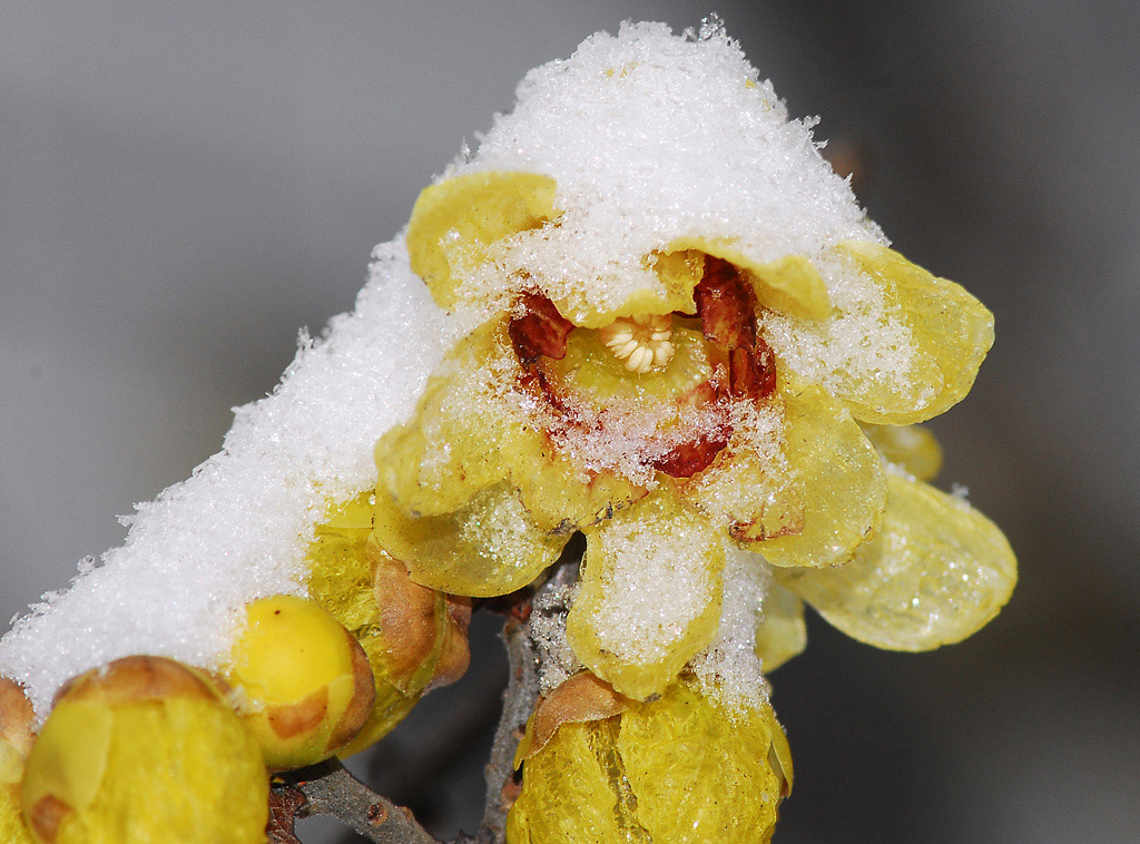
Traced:
<path fill-rule="evenodd" d="M 878 648 L 930 650 L 966 639 L 1009 600 L 1017 560 L 977 510 L 889 477 L 878 536 L 842 568 L 777 571 L 828 622 Z"/>

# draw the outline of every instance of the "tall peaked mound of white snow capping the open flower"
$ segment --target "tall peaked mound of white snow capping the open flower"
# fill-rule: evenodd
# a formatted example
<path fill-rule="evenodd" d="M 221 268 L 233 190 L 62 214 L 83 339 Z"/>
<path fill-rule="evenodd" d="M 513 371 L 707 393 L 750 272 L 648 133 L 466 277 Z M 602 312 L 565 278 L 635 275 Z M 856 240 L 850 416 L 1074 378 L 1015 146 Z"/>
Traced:
<path fill-rule="evenodd" d="M 719 29 L 675 38 L 665 24 L 624 24 L 528 73 L 518 97 L 443 178 L 544 173 L 562 214 L 502 242 L 472 273 L 461 292 L 474 307 L 492 307 L 504 278 L 523 274 L 571 310 L 617 307 L 660 290 L 646 259 L 679 237 L 728 238 L 763 262 L 883 240 L 809 123 L 788 120 Z"/>

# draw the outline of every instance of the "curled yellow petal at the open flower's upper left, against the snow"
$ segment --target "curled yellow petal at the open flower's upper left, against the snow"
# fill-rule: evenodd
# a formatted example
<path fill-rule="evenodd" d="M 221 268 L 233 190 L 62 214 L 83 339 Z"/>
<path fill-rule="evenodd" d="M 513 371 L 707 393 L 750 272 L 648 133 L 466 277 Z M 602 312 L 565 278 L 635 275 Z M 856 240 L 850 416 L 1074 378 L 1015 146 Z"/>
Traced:
<path fill-rule="evenodd" d="M 464 267 L 486 261 L 496 241 L 557 216 L 554 179 L 538 173 L 467 173 L 420 194 L 408 222 L 412 270 L 441 308 L 458 301 Z"/>

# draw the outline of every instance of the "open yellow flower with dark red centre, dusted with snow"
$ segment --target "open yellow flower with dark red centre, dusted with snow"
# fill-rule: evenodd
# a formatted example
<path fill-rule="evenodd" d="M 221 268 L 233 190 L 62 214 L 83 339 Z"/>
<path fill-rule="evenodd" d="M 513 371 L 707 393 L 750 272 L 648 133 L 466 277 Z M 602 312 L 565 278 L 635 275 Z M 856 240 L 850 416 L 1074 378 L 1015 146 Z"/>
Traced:
<path fill-rule="evenodd" d="M 966 395 L 993 341 L 976 299 L 878 243 L 773 261 L 756 238 L 699 233 L 645 254 L 620 301 L 591 278 L 544 287 L 518 246 L 563 225 L 556 187 L 474 172 L 413 211 L 412 267 L 435 302 L 484 315 L 376 447 L 375 537 L 413 579 L 508 593 L 583 531 L 569 641 L 638 700 L 709 644 L 727 543 L 780 570 L 769 620 L 787 604 L 791 623 L 762 631 L 772 659 L 795 651 L 781 589 L 891 648 L 996 612 L 1016 577 L 1000 531 L 888 471 L 862 427 L 888 427 L 868 430 L 898 461 L 883 430 Z"/>

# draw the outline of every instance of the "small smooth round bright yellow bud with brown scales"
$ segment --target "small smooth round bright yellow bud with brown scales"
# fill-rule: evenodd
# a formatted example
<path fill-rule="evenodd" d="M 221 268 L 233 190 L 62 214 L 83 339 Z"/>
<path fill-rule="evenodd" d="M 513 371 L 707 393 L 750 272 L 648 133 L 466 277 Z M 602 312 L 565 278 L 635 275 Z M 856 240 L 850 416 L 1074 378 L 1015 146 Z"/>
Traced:
<path fill-rule="evenodd" d="M 319 604 L 293 595 L 246 607 L 227 679 L 272 770 L 332 756 L 360 731 L 375 699 L 360 643 Z"/>

